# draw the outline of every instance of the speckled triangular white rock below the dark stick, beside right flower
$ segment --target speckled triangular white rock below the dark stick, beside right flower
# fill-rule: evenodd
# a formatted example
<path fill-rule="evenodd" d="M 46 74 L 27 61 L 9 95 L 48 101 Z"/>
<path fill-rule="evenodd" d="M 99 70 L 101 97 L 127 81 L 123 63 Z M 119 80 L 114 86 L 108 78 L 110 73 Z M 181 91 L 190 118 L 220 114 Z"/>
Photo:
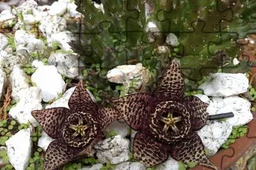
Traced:
<path fill-rule="evenodd" d="M 220 146 L 229 138 L 232 128 L 233 126 L 228 122 L 211 121 L 197 131 L 209 156 L 218 152 Z"/>

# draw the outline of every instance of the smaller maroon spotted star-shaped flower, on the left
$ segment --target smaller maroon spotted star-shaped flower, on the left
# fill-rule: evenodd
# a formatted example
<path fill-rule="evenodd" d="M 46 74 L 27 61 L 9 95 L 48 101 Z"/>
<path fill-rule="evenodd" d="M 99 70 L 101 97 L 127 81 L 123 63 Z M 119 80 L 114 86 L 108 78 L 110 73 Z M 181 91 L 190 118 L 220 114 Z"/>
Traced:
<path fill-rule="evenodd" d="M 55 107 L 31 114 L 43 130 L 56 139 L 46 150 L 45 170 L 57 169 L 82 155 L 92 155 L 92 146 L 104 137 L 104 129 L 122 118 L 113 108 L 98 107 L 82 82 L 69 99 L 69 109 Z"/>

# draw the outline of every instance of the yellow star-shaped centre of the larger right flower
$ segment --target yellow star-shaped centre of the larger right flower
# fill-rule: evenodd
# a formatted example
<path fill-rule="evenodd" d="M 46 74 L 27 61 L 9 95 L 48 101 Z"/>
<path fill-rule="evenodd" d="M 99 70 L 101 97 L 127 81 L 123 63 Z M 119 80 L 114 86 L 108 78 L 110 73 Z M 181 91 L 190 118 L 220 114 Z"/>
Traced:
<path fill-rule="evenodd" d="M 168 113 L 168 116 L 167 118 L 166 117 L 163 117 L 161 116 L 161 119 L 160 119 L 162 122 L 164 122 L 164 132 L 167 132 L 169 130 L 169 127 L 171 127 L 171 129 L 174 131 L 174 132 L 178 132 L 178 127 L 175 125 L 175 123 L 181 121 L 181 116 L 178 116 L 178 117 L 173 117 L 173 114 L 171 113 Z"/>

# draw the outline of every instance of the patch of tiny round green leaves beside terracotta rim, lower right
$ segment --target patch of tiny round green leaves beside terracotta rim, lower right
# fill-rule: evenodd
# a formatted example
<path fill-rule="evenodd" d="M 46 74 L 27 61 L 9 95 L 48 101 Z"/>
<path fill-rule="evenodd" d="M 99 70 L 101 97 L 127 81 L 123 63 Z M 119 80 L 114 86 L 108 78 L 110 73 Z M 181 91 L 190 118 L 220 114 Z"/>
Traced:
<path fill-rule="evenodd" d="M 229 148 L 229 145 L 233 144 L 239 137 L 243 137 L 247 133 L 247 130 L 248 127 L 246 125 L 234 126 L 229 138 L 221 147 L 225 149 Z"/>

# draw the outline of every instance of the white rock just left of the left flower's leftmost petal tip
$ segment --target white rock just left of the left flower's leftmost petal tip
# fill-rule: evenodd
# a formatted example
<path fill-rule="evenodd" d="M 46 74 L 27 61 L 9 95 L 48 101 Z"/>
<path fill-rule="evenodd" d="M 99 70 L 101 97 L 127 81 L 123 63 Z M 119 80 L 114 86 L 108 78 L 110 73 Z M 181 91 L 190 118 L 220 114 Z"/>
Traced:
<path fill-rule="evenodd" d="M 38 87 L 30 87 L 21 90 L 19 102 L 9 111 L 10 116 L 17 119 L 19 123 L 32 123 L 34 126 L 38 125 L 36 119 L 31 116 L 31 111 L 43 109 L 41 105 L 41 91 Z"/>

